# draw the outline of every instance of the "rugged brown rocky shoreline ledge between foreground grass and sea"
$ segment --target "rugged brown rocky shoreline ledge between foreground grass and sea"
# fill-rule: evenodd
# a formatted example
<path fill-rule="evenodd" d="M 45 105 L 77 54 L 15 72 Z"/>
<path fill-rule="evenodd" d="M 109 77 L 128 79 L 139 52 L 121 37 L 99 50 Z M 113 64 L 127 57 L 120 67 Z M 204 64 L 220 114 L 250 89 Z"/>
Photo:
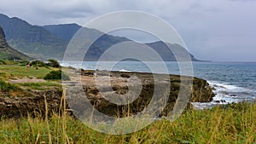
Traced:
<path fill-rule="evenodd" d="M 73 70 L 78 71 L 78 70 Z M 95 72 L 95 71 L 79 71 L 81 75 L 81 82 L 83 85 L 84 92 L 90 101 L 90 103 L 96 108 L 99 112 L 107 114 L 111 117 L 125 117 L 125 113 L 136 114 L 137 112 L 142 112 L 144 107 L 147 107 L 148 103 L 151 101 L 152 95 L 154 93 L 154 77 L 152 73 L 141 73 L 141 72 L 111 72 L 110 75 L 108 72 Z M 108 91 L 105 89 L 103 92 L 99 92 L 95 84 L 95 75 L 97 73 L 98 78 L 102 78 L 102 83 L 100 86 L 104 88 L 104 78 L 107 76 L 111 77 L 111 86 L 113 91 Z M 165 83 L 159 75 L 158 84 Z M 138 95 L 137 99 L 129 104 L 129 110 L 127 110 L 128 105 L 116 105 L 110 101 L 107 101 L 105 98 L 108 95 L 113 93 L 119 95 L 125 95 L 128 92 L 127 82 L 129 78 L 137 77 L 140 79 L 140 87 L 142 91 Z M 166 107 L 161 112 L 162 116 L 166 116 L 169 112 L 172 111 L 175 102 L 177 101 L 177 95 L 180 89 L 181 78 L 189 78 L 185 76 L 169 75 L 171 80 L 170 95 L 166 103 Z M 65 82 L 64 84 L 75 85 L 76 79 L 72 78 L 71 81 Z M 75 90 L 72 92 L 73 98 L 78 98 Z M 0 96 L 0 117 L 7 118 L 19 118 L 27 116 L 29 113 L 32 116 L 45 114 L 45 101 L 47 101 L 48 112 L 60 112 L 61 106 L 63 106 L 62 98 L 62 89 L 52 88 L 47 90 L 32 90 L 26 91 L 27 95 L 22 97 L 18 96 Z M 78 97 L 75 97 L 78 96 Z M 193 102 L 207 102 L 212 101 L 212 88 L 207 84 L 207 81 L 201 78 L 193 78 L 193 87 L 191 89 L 190 100 Z M 67 96 L 66 99 L 70 99 Z M 70 102 L 70 101 L 68 101 Z M 81 101 L 79 101 L 81 103 Z M 64 102 L 65 103 L 65 102 Z M 73 103 L 67 103 L 73 105 Z M 191 107 L 191 105 L 188 105 Z M 78 105 L 79 107 L 79 105 Z"/>

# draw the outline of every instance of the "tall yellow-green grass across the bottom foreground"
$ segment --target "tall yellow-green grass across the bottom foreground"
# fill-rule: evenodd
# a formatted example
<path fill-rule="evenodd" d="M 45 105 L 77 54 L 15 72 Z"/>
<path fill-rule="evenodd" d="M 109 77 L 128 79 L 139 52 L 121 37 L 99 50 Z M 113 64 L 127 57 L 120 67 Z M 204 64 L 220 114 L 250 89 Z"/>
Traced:
<path fill-rule="evenodd" d="M 256 104 L 183 112 L 175 122 L 155 121 L 128 135 L 107 135 L 79 120 L 50 118 L 0 121 L 0 143 L 256 143 Z"/>

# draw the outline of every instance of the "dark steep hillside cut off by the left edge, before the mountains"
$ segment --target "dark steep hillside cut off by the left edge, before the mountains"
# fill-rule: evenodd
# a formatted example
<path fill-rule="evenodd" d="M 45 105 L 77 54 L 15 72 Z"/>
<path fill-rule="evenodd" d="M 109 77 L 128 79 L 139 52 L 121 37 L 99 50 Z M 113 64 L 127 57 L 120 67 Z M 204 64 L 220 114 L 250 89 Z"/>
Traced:
<path fill-rule="evenodd" d="M 20 53 L 6 43 L 5 34 L 3 28 L 0 26 L 0 59 L 2 60 L 29 60 L 31 59 L 27 55 Z"/>

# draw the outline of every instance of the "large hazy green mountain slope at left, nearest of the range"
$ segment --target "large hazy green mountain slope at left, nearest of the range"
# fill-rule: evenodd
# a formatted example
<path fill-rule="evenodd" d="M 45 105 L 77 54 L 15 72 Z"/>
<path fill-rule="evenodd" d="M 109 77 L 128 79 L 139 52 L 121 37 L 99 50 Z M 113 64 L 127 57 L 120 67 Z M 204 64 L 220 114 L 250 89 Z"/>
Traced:
<path fill-rule="evenodd" d="M 3 27 L 6 40 L 13 48 L 32 57 L 60 59 L 68 43 L 42 26 L 32 26 L 25 20 L 9 18 L 4 14 L 0 14 L 0 26 Z"/>

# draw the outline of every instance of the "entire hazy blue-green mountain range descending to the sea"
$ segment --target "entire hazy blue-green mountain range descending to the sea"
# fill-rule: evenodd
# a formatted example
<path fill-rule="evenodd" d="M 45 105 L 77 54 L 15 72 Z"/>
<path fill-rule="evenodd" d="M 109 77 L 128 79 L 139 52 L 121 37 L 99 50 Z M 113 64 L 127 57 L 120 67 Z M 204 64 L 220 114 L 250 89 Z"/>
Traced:
<path fill-rule="evenodd" d="M 17 17 L 9 18 L 9 16 L 5 14 L 0 14 L 0 26 L 3 27 L 6 40 L 11 47 L 26 55 L 42 60 L 49 58 L 62 60 L 70 39 L 82 27 L 77 24 L 32 26 L 25 20 L 21 20 Z M 104 51 L 114 44 L 131 41 L 131 39 L 126 37 L 104 34 L 95 29 L 86 27 L 84 27 L 84 29 L 88 33 L 88 37 L 84 37 L 86 42 L 92 41 L 90 36 L 102 35 L 102 37 L 99 37 L 96 42 L 90 46 L 90 49 L 84 56 L 84 60 L 98 60 Z M 176 60 L 172 53 L 173 49 L 178 49 L 178 56 L 183 56 L 185 53 L 188 53 L 186 49 L 175 43 L 163 43 L 158 41 L 144 44 L 154 49 L 163 60 L 167 61 Z M 191 60 L 197 60 L 193 55 L 190 55 L 190 57 Z"/>

